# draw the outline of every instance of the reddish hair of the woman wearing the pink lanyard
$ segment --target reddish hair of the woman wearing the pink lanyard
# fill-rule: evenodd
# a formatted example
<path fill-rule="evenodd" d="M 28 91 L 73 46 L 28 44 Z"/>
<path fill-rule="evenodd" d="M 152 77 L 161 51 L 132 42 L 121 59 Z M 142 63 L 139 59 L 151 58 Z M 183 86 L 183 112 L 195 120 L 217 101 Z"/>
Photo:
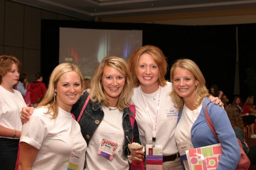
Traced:
<path fill-rule="evenodd" d="M 158 83 L 160 86 L 163 87 L 164 85 L 166 85 L 166 80 L 164 76 L 167 72 L 167 67 L 168 67 L 167 58 L 164 56 L 160 48 L 153 45 L 145 45 L 137 48 L 129 58 L 128 65 L 133 78 L 134 87 L 137 87 L 140 85 L 139 79 L 136 77 L 136 73 L 138 71 L 138 64 L 139 64 L 140 57 L 144 53 L 149 54 L 153 58 L 156 65 L 158 66 L 159 68 Z"/>

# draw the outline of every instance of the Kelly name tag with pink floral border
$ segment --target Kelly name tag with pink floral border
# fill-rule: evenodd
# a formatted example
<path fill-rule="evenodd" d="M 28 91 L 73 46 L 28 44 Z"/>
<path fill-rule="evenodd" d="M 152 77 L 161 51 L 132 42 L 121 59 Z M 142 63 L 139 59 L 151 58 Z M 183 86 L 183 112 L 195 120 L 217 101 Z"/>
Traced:
<path fill-rule="evenodd" d="M 118 147 L 117 143 L 112 142 L 108 139 L 102 139 L 101 145 L 98 150 L 98 154 L 111 161 L 114 158 L 115 150 L 117 147 Z"/>

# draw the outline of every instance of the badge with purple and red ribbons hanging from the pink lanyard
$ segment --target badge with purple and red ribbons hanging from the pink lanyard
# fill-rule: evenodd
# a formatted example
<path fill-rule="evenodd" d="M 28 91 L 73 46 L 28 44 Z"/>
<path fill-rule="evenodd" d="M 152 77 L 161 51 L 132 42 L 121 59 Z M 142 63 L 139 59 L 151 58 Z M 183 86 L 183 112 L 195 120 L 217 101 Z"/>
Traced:
<path fill-rule="evenodd" d="M 146 168 L 147 170 L 162 170 L 162 145 L 146 145 Z"/>

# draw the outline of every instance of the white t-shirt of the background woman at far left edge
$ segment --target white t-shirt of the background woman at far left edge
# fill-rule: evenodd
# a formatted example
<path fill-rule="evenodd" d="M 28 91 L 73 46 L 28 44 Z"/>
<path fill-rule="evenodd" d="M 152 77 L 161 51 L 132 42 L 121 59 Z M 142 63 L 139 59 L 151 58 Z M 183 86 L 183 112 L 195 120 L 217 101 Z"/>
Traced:
<path fill-rule="evenodd" d="M 13 90 L 14 93 L 0 86 L 0 126 L 21 131 L 20 111 L 22 107 L 27 107 L 27 105 L 20 92 Z M 0 138 L 7 137 L 0 136 Z"/>

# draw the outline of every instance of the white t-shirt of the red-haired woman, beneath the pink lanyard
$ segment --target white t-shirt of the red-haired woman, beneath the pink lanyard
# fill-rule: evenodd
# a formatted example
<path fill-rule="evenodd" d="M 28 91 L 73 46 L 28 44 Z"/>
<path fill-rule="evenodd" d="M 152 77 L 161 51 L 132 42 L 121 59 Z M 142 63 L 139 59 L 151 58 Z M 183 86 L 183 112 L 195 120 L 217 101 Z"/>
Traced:
<path fill-rule="evenodd" d="M 177 108 L 174 107 L 174 103 L 169 95 L 171 90 L 172 86 L 170 82 L 167 82 L 167 85 L 161 87 L 159 118 L 156 126 L 155 145 L 163 146 L 163 156 L 173 155 L 178 152 L 178 148 L 174 139 L 174 132 L 178 120 L 179 111 Z M 137 121 L 140 132 L 140 141 L 141 144 L 145 147 L 146 144 L 152 144 L 152 123 L 149 119 L 146 106 L 141 96 L 141 92 L 141 86 L 134 88 L 132 102 L 136 108 L 135 119 Z M 155 125 L 159 92 L 159 89 L 156 94 L 144 94 L 142 92 L 149 113 L 151 114 L 153 125 Z"/>

